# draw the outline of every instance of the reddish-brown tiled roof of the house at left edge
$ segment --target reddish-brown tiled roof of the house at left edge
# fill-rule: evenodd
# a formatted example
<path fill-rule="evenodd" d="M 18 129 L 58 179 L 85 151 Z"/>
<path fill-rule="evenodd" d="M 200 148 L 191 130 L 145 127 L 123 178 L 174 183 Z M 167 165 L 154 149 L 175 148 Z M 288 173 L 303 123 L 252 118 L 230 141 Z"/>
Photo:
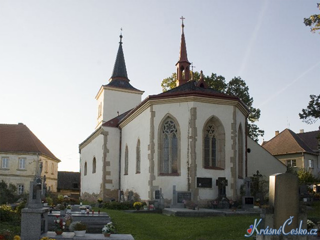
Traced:
<path fill-rule="evenodd" d="M 42 153 L 59 160 L 23 123 L 0 124 L 0 151 Z"/>

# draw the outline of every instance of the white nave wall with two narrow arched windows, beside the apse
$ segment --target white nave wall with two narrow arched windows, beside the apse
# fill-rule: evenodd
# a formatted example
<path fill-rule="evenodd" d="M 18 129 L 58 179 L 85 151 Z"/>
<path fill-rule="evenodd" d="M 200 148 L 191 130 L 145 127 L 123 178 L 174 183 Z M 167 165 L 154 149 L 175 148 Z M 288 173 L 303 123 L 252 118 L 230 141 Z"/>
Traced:
<path fill-rule="evenodd" d="M 121 190 L 138 193 L 142 200 L 148 200 L 149 160 L 148 144 L 150 143 L 150 110 L 145 109 L 122 128 L 121 133 Z M 140 173 L 136 173 L 136 144 L 140 140 Z M 124 175 L 125 145 L 128 147 L 128 174 Z"/>

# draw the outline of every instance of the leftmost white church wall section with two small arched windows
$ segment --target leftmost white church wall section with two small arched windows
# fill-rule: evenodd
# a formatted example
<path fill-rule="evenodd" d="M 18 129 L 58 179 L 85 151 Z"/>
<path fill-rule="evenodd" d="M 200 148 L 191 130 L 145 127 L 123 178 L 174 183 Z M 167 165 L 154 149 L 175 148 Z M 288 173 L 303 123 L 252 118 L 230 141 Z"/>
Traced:
<path fill-rule="evenodd" d="M 103 145 L 103 135 L 97 135 L 84 148 L 81 149 L 81 160 L 80 160 L 81 197 L 83 194 L 86 195 L 86 194 L 92 194 L 92 193 L 94 194 L 100 193 L 100 182 L 102 178 L 102 145 Z M 95 173 L 92 173 L 93 157 L 95 157 L 95 160 L 96 160 Z M 84 175 L 85 162 L 87 165 L 86 175 Z M 96 184 L 96 182 L 99 182 L 99 184 Z"/>

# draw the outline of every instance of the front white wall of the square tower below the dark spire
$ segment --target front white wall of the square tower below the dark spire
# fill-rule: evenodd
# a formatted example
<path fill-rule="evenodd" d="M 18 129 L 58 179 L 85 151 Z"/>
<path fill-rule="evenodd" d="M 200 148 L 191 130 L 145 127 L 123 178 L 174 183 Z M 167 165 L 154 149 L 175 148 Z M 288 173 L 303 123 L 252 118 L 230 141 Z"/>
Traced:
<path fill-rule="evenodd" d="M 130 110 L 141 102 L 142 93 L 133 93 L 124 90 L 103 90 L 102 115 L 103 121 L 108 121 L 119 114 Z M 125 99 L 125 100 L 123 100 Z"/>

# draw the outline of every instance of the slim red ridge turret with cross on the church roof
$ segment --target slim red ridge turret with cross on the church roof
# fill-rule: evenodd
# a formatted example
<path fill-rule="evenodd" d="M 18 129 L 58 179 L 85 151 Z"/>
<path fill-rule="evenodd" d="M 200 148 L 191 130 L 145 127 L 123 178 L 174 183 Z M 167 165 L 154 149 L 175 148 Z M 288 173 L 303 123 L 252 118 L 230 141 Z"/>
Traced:
<path fill-rule="evenodd" d="M 176 86 L 182 85 L 186 83 L 190 79 L 190 62 L 188 61 L 186 55 L 186 46 L 185 46 L 185 39 L 184 39 L 184 32 L 183 32 L 183 19 L 184 17 L 181 16 L 180 19 L 182 20 L 182 34 L 181 34 L 181 44 L 180 44 L 180 55 L 179 60 L 175 64 L 176 65 Z"/>

